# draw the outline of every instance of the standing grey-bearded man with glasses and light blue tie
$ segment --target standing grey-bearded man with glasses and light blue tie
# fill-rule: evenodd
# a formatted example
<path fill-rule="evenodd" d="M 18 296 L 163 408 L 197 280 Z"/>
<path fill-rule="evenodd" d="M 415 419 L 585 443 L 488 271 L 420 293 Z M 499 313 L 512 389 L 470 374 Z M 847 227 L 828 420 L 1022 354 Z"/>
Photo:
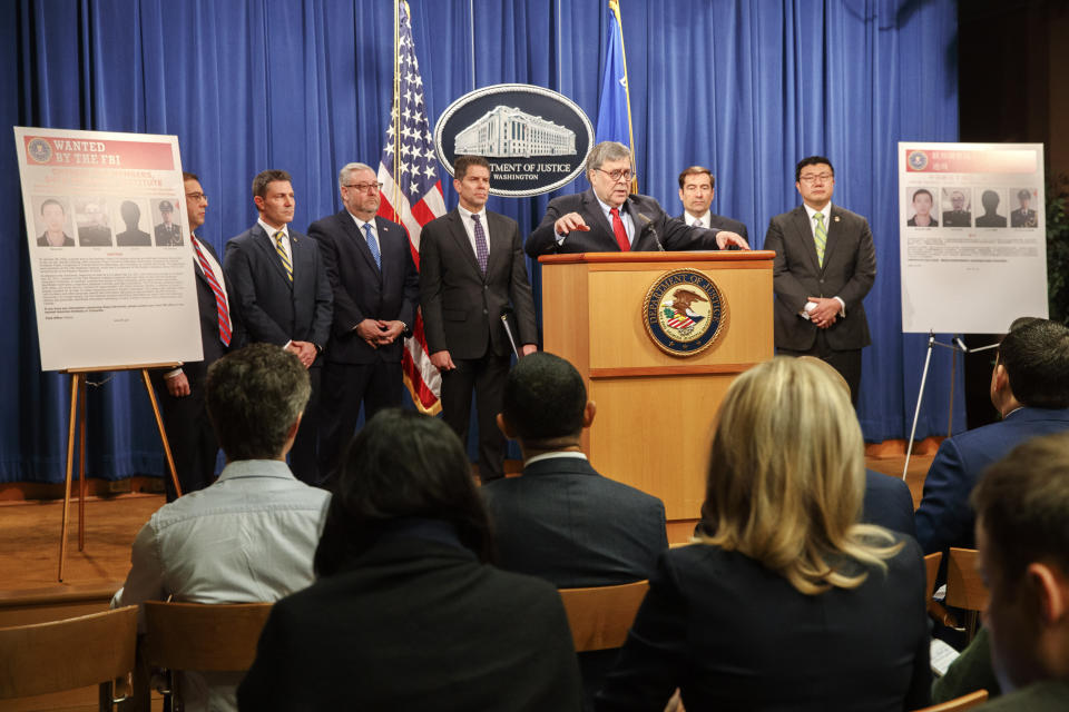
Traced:
<path fill-rule="evenodd" d="M 375 217 L 382 202 L 375 171 L 365 164 L 346 164 L 337 182 L 345 209 L 308 227 L 334 291 L 334 325 L 323 366 L 324 475 L 339 464 L 361 403 L 365 421 L 382 408 L 401 407 L 403 337 L 420 300 L 408 234 L 396 222 Z"/>

